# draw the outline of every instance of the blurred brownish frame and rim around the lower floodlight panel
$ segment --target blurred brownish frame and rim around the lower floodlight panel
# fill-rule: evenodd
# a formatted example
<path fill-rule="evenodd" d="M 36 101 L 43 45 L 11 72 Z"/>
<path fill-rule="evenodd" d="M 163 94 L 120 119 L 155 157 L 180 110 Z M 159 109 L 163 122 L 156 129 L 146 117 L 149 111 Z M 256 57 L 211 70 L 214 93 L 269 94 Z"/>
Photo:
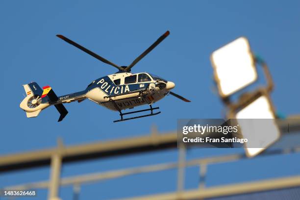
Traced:
<path fill-rule="evenodd" d="M 230 104 L 229 105 L 229 111 L 227 112 L 227 119 L 231 119 L 234 120 L 237 123 L 237 118 L 236 118 L 236 114 L 244 109 L 245 107 L 247 107 L 248 105 L 250 105 L 252 102 L 254 102 L 255 100 L 257 100 L 260 97 L 266 97 L 267 100 L 269 101 L 269 105 L 271 107 L 271 112 L 274 115 L 274 120 L 275 120 L 275 125 L 277 126 L 278 132 L 279 132 L 279 137 L 273 141 L 272 143 L 270 143 L 268 146 L 264 147 L 263 150 L 259 151 L 258 153 L 256 153 L 255 155 L 250 155 L 249 152 L 247 151 L 247 144 L 245 144 L 245 153 L 247 157 L 254 157 L 258 154 L 260 154 L 262 151 L 268 149 L 270 146 L 272 146 L 276 141 L 279 140 L 280 136 L 281 136 L 281 131 L 279 128 L 279 125 L 276 122 L 276 115 L 275 115 L 275 107 L 272 103 L 272 100 L 270 98 L 269 92 L 268 92 L 268 88 L 259 88 L 256 91 L 254 91 L 253 93 L 246 93 L 244 96 L 242 96 L 239 100 L 239 102 L 235 103 L 235 104 Z M 238 127 L 239 132 L 241 133 L 241 135 L 243 135 L 243 133 L 241 132 L 240 127 Z"/>

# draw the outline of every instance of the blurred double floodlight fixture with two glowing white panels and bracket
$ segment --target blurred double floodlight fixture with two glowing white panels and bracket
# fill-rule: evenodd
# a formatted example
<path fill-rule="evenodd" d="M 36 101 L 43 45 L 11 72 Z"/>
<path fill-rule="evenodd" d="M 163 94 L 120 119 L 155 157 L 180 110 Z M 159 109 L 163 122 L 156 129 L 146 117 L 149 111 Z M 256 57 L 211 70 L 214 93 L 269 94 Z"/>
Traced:
<path fill-rule="evenodd" d="M 263 59 L 252 54 L 245 37 L 215 50 L 210 59 L 219 95 L 228 109 L 227 119 L 236 119 L 239 133 L 248 139 L 244 146 L 246 155 L 253 157 L 280 137 L 274 107 L 269 98 L 273 81 L 268 66 Z M 267 85 L 253 92 L 244 92 L 233 102 L 229 98 L 231 95 L 257 80 L 256 64 L 262 67 Z"/>

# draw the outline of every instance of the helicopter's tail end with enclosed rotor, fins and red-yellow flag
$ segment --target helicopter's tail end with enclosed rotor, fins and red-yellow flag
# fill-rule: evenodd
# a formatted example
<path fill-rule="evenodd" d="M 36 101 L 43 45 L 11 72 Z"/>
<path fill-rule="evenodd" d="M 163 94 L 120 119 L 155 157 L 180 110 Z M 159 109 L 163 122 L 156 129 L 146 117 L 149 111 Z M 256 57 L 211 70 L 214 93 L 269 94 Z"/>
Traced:
<path fill-rule="evenodd" d="M 26 112 L 26 116 L 28 118 L 37 117 L 43 109 L 50 106 L 49 100 L 58 100 L 56 94 L 50 86 L 45 86 L 42 89 L 36 82 L 31 82 L 23 86 L 27 96 L 21 102 L 20 107 Z M 49 99 L 46 100 L 47 103 L 42 100 L 45 97 Z M 55 104 L 54 106 L 60 113 L 60 117 L 58 119 L 58 122 L 60 122 L 68 114 L 68 111 L 62 103 Z"/>

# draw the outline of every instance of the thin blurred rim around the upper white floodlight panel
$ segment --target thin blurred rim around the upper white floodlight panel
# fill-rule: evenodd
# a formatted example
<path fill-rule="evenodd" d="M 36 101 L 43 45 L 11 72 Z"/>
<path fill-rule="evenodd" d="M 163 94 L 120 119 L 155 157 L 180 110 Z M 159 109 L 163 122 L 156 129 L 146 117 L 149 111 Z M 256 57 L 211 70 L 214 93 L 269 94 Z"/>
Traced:
<path fill-rule="evenodd" d="M 234 41 L 236 41 L 237 39 L 240 39 L 240 38 L 244 38 L 244 39 L 246 40 L 248 46 L 249 46 L 249 49 L 250 49 L 250 52 L 249 52 L 249 53 L 250 53 L 250 55 L 251 55 L 251 59 L 252 59 L 252 62 L 253 62 L 252 67 L 253 67 L 253 69 L 254 69 L 254 71 L 255 71 L 256 77 L 255 77 L 255 79 L 254 79 L 253 81 L 249 82 L 248 84 L 244 85 L 243 87 L 241 87 L 241 88 L 239 88 L 239 89 L 237 89 L 237 90 L 235 90 L 235 91 L 232 91 L 231 93 L 225 95 L 225 94 L 222 92 L 221 84 L 220 84 L 220 79 L 219 79 L 219 77 L 218 77 L 218 75 L 217 75 L 217 73 L 216 73 L 216 72 L 217 72 L 217 66 L 216 66 L 216 64 L 215 64 L 215 62 L 214 62 L 214 60 L 213 60 L 213 56 L 212 56 L 212 55 L 213 55 L 213 52 L 216 51 L 216 50 L 214 50 L 214 51 L 211 53 L 211 55 L 210 55 L 210 62 L 211 62 L 212 68 L 213 68 L 213 70 L 214 70 L 214 80 L 215 80 L 215 82 L 216 82 L 216 84 L 217 84 L 217 87 L 218 87 L 218 93 L 219 93 L 219 95 L 220 95 L 220 97 L 221 97 L 222 99 L 227 99 L 227 98 L 229 98 L 229 97 L 232 96 L 233 94 L 235 94 L 235 93 L 237 93 L 237 92 L 243 90 L 244 88 L 248 87 L 249 85 L 255 83 L 255 82 L 257 81 L 257 79 L 258 79 L 258 73 L 257 73 L 257 68 L 256 68 L 256 57 L 253 55 L 253 52 L 251 51 L 250 42 L 249 42 L 249 40 L 248 40 L 247 37 L 245 37 L 245 36 L 238 37 L 238 38 L 236 38 L 236 39 L 234 39 L 234 40 L 228 42 L 227 44 L 223 45 L 222 47 L 218 48 L 217 50 L 219 50 L 219 49 L 225 47 L 226 45 L 228 45 L 228 44 L 230 44 L 230 43 L 232 43 L 232 42 L 234 42 Z"/>

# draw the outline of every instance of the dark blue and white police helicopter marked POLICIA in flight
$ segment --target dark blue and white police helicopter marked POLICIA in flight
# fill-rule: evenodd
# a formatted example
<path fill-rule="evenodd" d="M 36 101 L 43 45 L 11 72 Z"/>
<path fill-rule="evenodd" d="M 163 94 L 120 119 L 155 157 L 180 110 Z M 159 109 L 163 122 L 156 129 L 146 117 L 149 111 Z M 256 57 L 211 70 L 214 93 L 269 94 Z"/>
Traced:
<path fill-rule="evenodd" d="M 50 105 L 54 105 L 57 111 L 60 113 L 60 117 L 58 119 L 58 122 L 60 122 L 68 114 L 68 111 L 63 103 L 70 103 L 73 101 L 81 102 L 88 99 L 110 110 L 118 111 L 121 119 L 113 122 L 121 122 L 159 114 L 160 111 L 153 112 L 153 110 L 159 109 L 159 107 L 152 107 L 152 104 L 163 99 L 167 95 L 172 95 L 185 102 L 190 102 L 190 100 L 171 92 L 171 90 L 175 87 L 174 82 L 167 81 L 164 78 L 150 73 L 131 73 L 131 68 L 158 44 L 160 44 L 169 34 L 170 32 L 166 31 L 163 35 L 161 35 L 129 66 L 118 66 L 101 57 L 100 55 L 82 47 L 67 37 L 63 35 L 56 35 L 60 39 L 80 50 L 83 50 L 98 60 L 117 68 L 119 71 L 115 74 L 106 75 L 93 80 L 83 91 L 59 97 L 56 96 L 50 86 L 44 86 L 41 88 L 36 82 L 25 84 L 23 87 L 25 89 L 26 96 L 25 99 L 20 103 L 20 107 L 26 112 L 27 118 L 31 118 L 37 117 L 43 109 L 49 107 Z M 146 104 L 150 106 L 149 109 L 125 113 L 122 112 L 122 110 L 132 109 L 134 107 Z M 146 111 L 150 111 L 150 114 L 124 118 L 124 115 Z"/>

